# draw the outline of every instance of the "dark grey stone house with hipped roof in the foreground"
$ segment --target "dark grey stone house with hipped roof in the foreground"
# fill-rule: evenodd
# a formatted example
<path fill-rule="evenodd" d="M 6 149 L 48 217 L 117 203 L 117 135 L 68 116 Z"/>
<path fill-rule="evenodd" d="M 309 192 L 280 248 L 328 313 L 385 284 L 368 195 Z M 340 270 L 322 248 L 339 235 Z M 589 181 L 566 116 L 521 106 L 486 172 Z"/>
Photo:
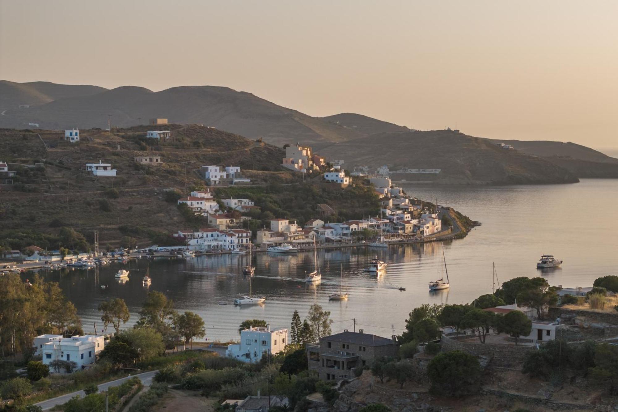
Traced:
<path fill-rule="evenodd" d="M 349 332 L 320 339 L 316 345 L 307 345 L 309 370 L 323 380 L 342 380 L 354 376 L 356 367 L 370 365 L 374 359 L 397 354 L 396 340 L 364 333 Z"/>

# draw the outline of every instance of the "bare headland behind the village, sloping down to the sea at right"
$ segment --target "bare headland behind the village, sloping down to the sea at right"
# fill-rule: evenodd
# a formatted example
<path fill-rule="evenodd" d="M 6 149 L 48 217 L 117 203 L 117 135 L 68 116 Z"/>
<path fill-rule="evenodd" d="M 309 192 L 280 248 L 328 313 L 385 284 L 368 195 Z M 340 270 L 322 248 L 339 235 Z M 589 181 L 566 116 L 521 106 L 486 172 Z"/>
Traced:
<path fill-rule="evenodd" d="M 397 148 L 392 150 L 392 148 Z M 323 148 L 321 154 L 345 158 L 346 168 L 387 165 L 441 169 L 438 174 L 400 173 L 396 179 L 441 184 L 536 184 L 577 182 L 577 177 L 550 161 L 505 150 L 486 139 L 454 131 L 376 134 Z"/>

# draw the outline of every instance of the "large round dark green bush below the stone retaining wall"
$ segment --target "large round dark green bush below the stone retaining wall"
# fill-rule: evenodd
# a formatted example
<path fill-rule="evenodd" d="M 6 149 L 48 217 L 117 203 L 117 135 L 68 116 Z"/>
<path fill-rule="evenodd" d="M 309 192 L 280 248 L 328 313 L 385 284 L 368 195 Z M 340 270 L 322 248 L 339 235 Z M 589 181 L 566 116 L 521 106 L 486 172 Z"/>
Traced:
<path fill-rule="evenodd" d="M 461 397 L 478 392 L 481 367 L 476 356 L 462 351 L 440 353 L 427 366 L 434 395 Z"/>

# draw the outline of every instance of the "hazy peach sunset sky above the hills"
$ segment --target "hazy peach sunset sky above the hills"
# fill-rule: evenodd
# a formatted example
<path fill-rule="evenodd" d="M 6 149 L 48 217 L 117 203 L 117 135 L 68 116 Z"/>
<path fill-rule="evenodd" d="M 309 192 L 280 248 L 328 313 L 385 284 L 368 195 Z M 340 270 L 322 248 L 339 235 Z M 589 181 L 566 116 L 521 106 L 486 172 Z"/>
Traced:
<path fill-rule="evenodd" d="M 312 116 L 618 149 L 618 2 L 0 0 L 0 79 L 220 85 Z"/>

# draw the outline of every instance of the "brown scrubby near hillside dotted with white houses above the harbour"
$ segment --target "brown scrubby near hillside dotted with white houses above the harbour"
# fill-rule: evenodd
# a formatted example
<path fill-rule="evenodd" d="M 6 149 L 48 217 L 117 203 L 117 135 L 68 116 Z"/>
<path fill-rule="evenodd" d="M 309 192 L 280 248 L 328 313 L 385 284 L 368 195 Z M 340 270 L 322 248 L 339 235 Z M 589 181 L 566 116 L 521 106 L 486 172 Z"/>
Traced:
<path fill-rule="evenodd" d="M 2 160 L 18 172 L 13 185 L 0 189 L 0 247 L 43 242 L 41 233 L 56 239 L 63 227 L 88 242 L 98 230 L 101 246 L 117 246 L 122 236 L 140 244 L 169 242 L 170 233 L 206 226 L 205 218 L 176 204 L 180 195 L 205 187 L 198 173 L 203 165 L 240 166 L 252 179 L 251 186 L 215 189 L 220 195 L 250 195 L 261 207 L 252 211 L 248 228 L 260 228 L 273 217 L 303 223 L 316 215 L 317 203 L 331 205 L 342 218 L 378 213 L 378 197 L 368 184 L 342 189 L 319 178 L 303 182 L 300 173 L 280 165 L 280 147 L 195 124 L 161 126 L 172 135 L 159 143 L 146 139 L 149 128 L 82 129 L 76 144 L 64 141 L 63 131 L 0 129 Z M 140 155 L 160 156 L 162 163 L 140 165 L 133 159 Z M 85 170 L 86 163 L 98 160 L 111 163 L 117 176 L 96 177 Z M 49 239 L 45 242 L 53 247 Z"/>

